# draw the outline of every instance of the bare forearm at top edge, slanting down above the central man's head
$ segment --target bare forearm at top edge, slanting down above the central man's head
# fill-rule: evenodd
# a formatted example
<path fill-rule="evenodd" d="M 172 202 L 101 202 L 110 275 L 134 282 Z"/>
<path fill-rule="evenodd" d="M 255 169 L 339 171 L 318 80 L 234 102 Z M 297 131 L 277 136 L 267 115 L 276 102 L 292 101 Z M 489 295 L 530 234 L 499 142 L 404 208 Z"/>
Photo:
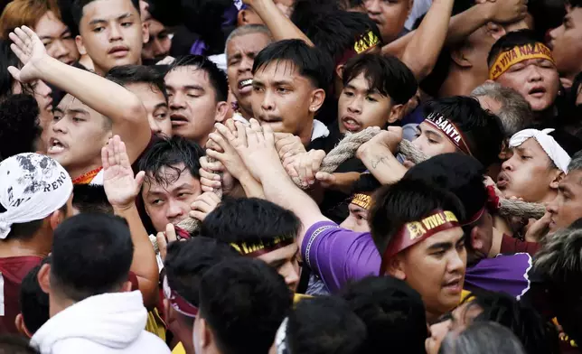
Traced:
<path fill-rule="evenodd" d="M 253 9 L 260 16 L 261 20 L 267 25 L 268 30 L 273 35 L 275 41 L 299 39 L 314 46 L 314 43 L 307 38 L 305 33 L 292 23 L 291 20 L 283 14 L 273 3 L 273 0 L 255 0 Z"/>

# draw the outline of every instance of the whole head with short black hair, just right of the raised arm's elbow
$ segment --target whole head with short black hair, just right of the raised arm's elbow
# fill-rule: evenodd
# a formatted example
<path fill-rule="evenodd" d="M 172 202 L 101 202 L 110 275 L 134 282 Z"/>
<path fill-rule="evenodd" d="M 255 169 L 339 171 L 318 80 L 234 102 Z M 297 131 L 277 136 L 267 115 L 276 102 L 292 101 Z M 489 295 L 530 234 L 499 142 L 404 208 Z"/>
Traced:
<path fill-rule="evenodd" d="M 201 146 L 216 122 L 225 120 L 229 84 L 212 61 L 200 55 L 176 59 L 165 75 L 172 120 L 172 133 Z"/>

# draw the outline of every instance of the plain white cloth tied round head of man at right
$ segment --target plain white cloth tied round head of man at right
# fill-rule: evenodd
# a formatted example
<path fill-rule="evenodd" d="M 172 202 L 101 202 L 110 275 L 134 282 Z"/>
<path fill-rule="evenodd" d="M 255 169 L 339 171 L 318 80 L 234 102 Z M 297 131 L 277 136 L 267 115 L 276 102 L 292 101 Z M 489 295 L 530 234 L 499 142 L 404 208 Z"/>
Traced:
<path fill-rule="evenodd" d="M 548 154 L 549 159 L 564 173 L 568 173 L 570 155 L 562 148 L 549 133 L 555 129 L 524 129 L 515 133 L 510 139 L 510 147 L 517 147 L 531 137 L 538 141 L 541 148 Z"/>

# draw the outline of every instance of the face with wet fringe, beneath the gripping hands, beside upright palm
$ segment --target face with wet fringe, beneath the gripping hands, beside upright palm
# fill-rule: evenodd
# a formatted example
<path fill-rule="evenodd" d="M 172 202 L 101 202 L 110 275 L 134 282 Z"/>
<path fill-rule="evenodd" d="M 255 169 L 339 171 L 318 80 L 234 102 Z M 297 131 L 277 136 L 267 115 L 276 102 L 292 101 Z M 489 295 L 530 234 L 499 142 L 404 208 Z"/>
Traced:
<path fill-rule="evenodd" d="M 144 205 L 157 232 L 164 231 L 167 224 L 177 225 L 188 218 L 192 202 L 202 193 L 200 181 L 184 169 L 183 163 L 172 168 L 163 167 L 158 174 L 167 183 L 160 184 L 152 178 L 144 183 Z"/>

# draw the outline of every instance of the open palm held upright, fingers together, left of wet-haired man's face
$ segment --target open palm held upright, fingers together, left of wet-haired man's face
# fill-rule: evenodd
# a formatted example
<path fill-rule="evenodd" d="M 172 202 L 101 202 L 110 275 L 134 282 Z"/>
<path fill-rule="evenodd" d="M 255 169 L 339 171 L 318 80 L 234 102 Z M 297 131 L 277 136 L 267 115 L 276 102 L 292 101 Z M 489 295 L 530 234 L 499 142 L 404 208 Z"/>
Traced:
<path fill-rule="evenodd" d="M 103 188 L 113 208 L 127 209 L 133 205 L 144 182 L 145 172 L 134 172 L 127 157 L 126 144 L 119 135 L 109 139 L 101 149 L 103 163 Z"/>

